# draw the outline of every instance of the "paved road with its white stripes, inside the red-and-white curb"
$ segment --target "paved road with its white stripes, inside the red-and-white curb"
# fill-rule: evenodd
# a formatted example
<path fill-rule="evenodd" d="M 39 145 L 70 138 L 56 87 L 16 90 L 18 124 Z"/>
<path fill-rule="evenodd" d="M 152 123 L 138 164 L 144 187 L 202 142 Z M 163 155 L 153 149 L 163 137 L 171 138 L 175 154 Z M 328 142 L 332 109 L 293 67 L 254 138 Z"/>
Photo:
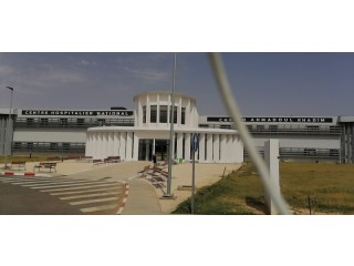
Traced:
<path fill-rule="evenodd" d="M 110 177 L 0 176 L 0 214 L 116 214 L 124 190 Z"/>

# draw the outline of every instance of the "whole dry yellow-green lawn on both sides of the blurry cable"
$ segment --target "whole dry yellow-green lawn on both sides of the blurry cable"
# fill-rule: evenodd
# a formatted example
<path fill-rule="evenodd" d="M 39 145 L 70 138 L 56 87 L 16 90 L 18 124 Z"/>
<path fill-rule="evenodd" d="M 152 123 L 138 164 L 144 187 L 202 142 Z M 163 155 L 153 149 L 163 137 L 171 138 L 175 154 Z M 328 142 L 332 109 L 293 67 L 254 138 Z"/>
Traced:
<path fill-rule="evenodd" d="M 281 163 L 280 188 L 292 211 L 354 214 L 354 165 Z M 175 214 L 189 214 L 190 200 Z M 252 164 L 244 164 L 195 196 L 196 214 L 266 214 L 264 191 Z"/>

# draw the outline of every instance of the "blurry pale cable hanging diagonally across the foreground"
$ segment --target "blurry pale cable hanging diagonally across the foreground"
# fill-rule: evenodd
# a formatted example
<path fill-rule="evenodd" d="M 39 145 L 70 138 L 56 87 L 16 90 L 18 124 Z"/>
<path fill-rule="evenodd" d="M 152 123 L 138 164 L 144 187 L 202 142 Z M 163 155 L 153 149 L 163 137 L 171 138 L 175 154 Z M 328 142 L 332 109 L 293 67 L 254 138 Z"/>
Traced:
<path fill-rule="evenodd" d="M 238 133 L 241 136 L 241 140 L 248 151 L 248 154 L 251 161 L 256 165 L 256 168 L 261 177 L 266 192 L 270 195 L 271 200 L 274 202 L 274 206 L 280 214 L 290 214 L 289 208 L 287 206 L 287 202 L 282 198 L 280 193 L 278 193 L 275 188 L 272 186 L 269 170 L 264 161 L 258 154 L 252 136 L 250 135 L 248 129 L 246 127 L 246 125 L 241 120 L 241 114 L 237 105 L 236 98 L 233 98 L 232 91 L 230 89 L 230 84 L 229 84 L 220 54 L 209 53 L 209 59 L 211 62 L 215 78 L 219 86 L 221 98 L 228 109 L 229 114 L 231 115 L 232 120 L 236 123 Z"/>

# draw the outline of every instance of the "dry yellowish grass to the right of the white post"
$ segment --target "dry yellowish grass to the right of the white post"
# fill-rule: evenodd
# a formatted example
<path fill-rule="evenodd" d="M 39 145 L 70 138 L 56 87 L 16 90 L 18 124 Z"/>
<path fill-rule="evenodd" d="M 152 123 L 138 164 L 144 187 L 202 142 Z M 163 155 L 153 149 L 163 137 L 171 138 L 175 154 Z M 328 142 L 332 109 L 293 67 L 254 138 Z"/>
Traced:
<path fill-rule="evenodd" d="M 280 173 L 290 206 L 306 208 L 310 197 L 316 212 L 354 214 L 354 165 L 283 163 Z"/>

